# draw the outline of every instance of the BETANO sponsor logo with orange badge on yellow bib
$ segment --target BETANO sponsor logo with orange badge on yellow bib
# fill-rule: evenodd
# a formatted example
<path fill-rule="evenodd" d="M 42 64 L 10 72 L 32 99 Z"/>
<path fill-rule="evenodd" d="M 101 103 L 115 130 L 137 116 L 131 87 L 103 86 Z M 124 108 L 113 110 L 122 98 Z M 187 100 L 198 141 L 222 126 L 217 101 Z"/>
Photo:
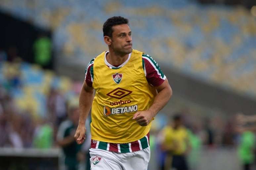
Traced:
<path fill-rule="evenodd" d="M 114 114 L 123 114 L 123 113 L 130 113 L 130 112 L 136 112 L 138 111 L 138 105 L 132 105 L 132 106 L 125 106 L 125 107 L 115 107 L 110 108 L 108 106 L 104 106 L 104 115 L 114 115 Z"/>

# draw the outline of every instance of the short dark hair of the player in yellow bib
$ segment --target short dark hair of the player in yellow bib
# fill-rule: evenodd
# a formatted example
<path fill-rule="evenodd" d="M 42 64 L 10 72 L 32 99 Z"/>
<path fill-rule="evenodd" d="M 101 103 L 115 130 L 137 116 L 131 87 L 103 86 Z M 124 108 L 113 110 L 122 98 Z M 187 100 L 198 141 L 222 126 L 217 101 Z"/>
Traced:
<path fill-rule="evenodd" d="M 103 36 L 112 37 L 112 26 L 120 25 L 120 24 L 128 24 L 129 20 L 122 16 L 113 16 L 108 18 L 107 21 L 103 24 Z"/>

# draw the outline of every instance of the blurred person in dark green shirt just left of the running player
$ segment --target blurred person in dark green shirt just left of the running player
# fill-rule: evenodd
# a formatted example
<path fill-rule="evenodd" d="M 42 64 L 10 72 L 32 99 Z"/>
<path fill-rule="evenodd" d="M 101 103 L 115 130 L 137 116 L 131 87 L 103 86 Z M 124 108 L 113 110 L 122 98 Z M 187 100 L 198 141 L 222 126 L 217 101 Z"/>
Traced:
<path fill-rule="evenodd" d="M 67 170 L 77 170 L 79 163 L 85 160 L 82 145 L 78 145 L 74 138 L 78 121 L 78 106 L 69 106 L 68 120 L 61 123 L 57 134 L 57 143 L 63 149 Z"/>

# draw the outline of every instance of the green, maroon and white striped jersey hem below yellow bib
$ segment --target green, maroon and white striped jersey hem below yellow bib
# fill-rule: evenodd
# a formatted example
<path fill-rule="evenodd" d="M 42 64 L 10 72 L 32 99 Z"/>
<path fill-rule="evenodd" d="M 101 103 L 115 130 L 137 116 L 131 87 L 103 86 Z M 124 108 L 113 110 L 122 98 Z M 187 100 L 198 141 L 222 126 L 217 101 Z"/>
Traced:
<path fill-rule="evenodd" d="M 91 148 L 102 149 L 102 150 L 118 152 L 118 153 L 135 152 L 135 151 L 143 150 L 148 147 L 149 147 L 149 133 L 145 137 L 131 143 L 117 144 L 117 143 L 107 143 L 107 142 L 91 140 Z"/>

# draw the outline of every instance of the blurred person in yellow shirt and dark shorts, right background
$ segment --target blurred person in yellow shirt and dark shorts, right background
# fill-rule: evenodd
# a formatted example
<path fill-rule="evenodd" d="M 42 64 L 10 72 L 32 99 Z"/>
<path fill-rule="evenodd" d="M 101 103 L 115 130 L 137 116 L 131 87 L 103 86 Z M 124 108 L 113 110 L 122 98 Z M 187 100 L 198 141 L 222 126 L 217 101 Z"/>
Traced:
<path fill-rule="evenodd" d="M 190 149 L 189 136 L 179 113 L 173 116 L 173 124 L 163 129 L 163 135 L 163 150 L 167 152 L 165 169 L 173 167 L 177 170 L 188 170 L 186 155 Z"/>

